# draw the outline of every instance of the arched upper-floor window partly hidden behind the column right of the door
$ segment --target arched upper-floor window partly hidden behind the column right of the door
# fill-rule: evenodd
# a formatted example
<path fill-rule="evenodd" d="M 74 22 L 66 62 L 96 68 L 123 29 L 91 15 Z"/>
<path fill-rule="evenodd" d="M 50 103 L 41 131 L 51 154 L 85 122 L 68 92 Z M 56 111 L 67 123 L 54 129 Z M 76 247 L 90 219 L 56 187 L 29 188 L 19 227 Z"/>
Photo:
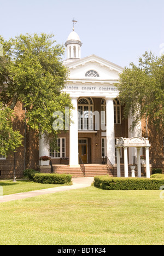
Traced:
<path fill-rule="evenodd" d="M 114 104 L 114 123 L 121 124 L 121 104 L 118 98 L 113 101 Z M 106 100 L 101 101 L 101 124 L 106 124 Z"/>

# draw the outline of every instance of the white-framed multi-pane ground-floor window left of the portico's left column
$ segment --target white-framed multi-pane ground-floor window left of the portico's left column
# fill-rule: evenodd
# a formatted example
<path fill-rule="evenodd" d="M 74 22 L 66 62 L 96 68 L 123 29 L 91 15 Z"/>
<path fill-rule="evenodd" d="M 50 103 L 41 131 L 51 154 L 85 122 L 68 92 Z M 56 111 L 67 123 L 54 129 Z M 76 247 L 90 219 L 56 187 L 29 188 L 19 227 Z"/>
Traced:
<path fill-rule="evenodd" d="M 66 138 L 58 138 L 55 145 L 55 150 L 50 147 L 50 158 L 65 158 L 66 157 Z"/>

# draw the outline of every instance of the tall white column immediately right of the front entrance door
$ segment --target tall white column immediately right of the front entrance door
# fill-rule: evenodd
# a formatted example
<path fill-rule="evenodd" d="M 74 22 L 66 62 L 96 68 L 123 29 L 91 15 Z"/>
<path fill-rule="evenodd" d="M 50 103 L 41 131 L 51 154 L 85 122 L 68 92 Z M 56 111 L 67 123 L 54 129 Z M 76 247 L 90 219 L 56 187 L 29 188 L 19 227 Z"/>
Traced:
<path fill-rule="evenodd" d="M 114 141 L 114 106 L 113 98 L 106 98 L 106 115 L 107 115 L 107 156 L 115 164 L 115 141 Z"/>

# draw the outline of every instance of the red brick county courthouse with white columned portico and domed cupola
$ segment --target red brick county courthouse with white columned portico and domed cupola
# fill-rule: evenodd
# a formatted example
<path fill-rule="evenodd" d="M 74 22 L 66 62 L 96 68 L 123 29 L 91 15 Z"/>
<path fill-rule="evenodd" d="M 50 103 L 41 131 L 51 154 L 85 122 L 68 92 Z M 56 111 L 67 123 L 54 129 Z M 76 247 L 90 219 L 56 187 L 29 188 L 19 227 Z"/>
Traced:
<path fill-rule="evenodd" d="M 116 176 L 116 141 L 118 138 L 146 137 L 145 121 L 142 120 L 130 131 L 132 117 L 123 118 L 124 106 L 119 101 L 119 75 L 123 68 L 99 56 L 90 55 L 81 59 L 81 40 L 73 31 L 66 42 L 67 59 L 63 62 L 69 69 L 69 79 L 63 91 L 67 92 L 74 109 L 68 131 L 61 131 L 54 150 L 44 137 L 38 141 L 33 133 L 27 134 L 26 168 L 39 168 L 41 172 L 71 173 L 77 177 L 109 173 Z M 19 111 L 19 109 L 17 110 Z M 149 129 L 150 130 L 150 129 Z M 151 147 L 150 164 L 163 168 L 163 135 L 148 132 Z M 156 142 L 158 141 L 158 142 Z M 125 150 L 120 149 L 120 164 L 124 164 Z M 137 162 L 137 148 L 126 150 L 128 164 Z M 145 148 L 140 148 L 140 155 Z M 40 166 L 40 156 L 50 156 L 52 166 Z M 24 148 L 17 153 L 17 173 L 24 165 Z M 108 164 L 108 165 L 106 165 Z M 9 172 L 13 158 L 0 159 L 1 176 Z M 110 169 L 110 170 L 109 170 Z M 11 173 L 11 172 L 10 172 Z M 85 173 L 85 174 L 86 174 Z M 144 171 L 142 173 L 144 175 Z M 137 173 L 136 173 L 137 175 Z M 1 178 L 0 176 L 0 178 Z M 123 174 L 124 176 L 124 174 Z"/>

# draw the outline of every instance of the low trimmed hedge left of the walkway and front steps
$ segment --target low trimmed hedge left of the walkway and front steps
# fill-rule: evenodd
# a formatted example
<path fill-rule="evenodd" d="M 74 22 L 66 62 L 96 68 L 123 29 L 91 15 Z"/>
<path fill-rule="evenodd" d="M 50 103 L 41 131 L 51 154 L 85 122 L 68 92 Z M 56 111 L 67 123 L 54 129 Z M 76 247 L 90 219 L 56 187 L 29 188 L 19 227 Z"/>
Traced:
<path fill-rule="evenodd" d="M 65 184 L 71 183 L 72 176 L 70 174 L 58 173 L 36 173 L 33 181 L 44 184 Z"/>

